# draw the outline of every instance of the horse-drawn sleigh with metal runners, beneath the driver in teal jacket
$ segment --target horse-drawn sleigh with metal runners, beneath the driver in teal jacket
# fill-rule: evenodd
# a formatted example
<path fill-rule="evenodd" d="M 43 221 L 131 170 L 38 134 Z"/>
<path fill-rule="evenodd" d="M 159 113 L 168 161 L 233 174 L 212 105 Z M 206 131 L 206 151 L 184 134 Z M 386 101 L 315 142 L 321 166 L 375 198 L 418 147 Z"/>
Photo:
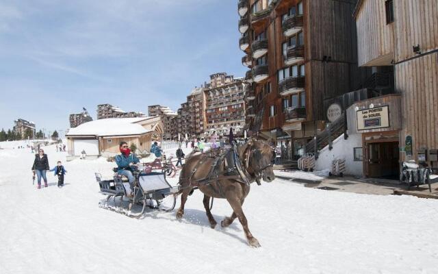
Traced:
<path fill-rule="evenodd" d="M 107 196 L 99 203 L 101 208 L 131 217 L 143 216 L 146 208 L 166 212 L 175 208 L 174 194 L 179 191 L 179 187 L 170 186 L 165 173 L 134 171 L 133 175 L 136 180 L 132 191 L 127 179 L 118 173 L 115 173 L 114 179 L 110 180 L 103 180 L 100 173 L 95 173 L 95 175 L 100 193 Z M 127 206 L 124 205 L 126 203 Z"/>

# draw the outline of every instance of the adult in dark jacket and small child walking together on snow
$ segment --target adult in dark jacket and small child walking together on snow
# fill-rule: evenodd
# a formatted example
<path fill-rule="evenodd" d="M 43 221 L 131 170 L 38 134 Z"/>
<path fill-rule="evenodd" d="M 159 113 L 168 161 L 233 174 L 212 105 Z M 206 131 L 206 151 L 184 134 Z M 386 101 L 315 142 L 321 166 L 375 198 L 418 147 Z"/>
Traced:
<path fill-rule="evenodd" d="M 44 153 L 44 149 L 38 149 L 38 154 L 35 155 L 34 164 L 32 165 L 32 173 L 34 173 L 34 179 L 35 175 L 37 176 L 37 188 L 41 188 L 41 179 L 44 180 L 44 187 L 47 188 L 49 186 L 47 184 L 47 171 L 53 171 L 54 175 L 57 176 L 57 186 L 58 188 L 61 188 L 64 186 L 64 175 L 66 174 L 66 169 L 64 169 L 64 166 L 62 166 L 61 161 L 57 161 L 57 166 L 55 166 L 53 169 L 49 168 L 49 158 L 47 158 L 47 154 Z"/>

